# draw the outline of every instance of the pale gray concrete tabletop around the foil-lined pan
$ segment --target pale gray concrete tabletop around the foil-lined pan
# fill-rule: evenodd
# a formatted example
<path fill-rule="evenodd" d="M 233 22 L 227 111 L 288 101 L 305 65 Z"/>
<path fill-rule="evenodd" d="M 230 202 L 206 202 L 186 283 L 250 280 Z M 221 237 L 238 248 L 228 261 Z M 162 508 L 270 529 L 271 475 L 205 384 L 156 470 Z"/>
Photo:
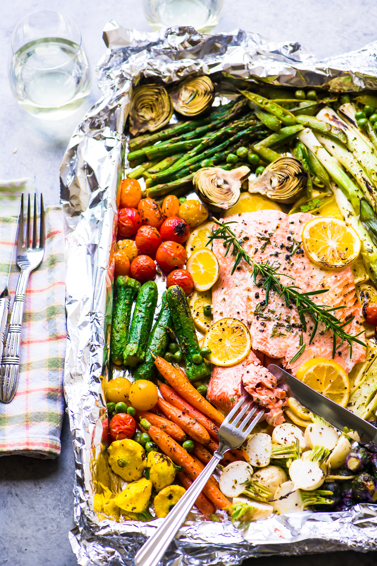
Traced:
<path fill-rule="evenodd" d="M 45 122 L 25 113 L 7 83 L 10 35 L 24 15 L 36 10 L 60 10 L 70 15 L 83 34 L 94 66 L 105 50 L 103 25 L 115 19 L 127 27 L 148 30 L 138 0 L 2 0 L 0 2 L 0 179 L 32 177 L 46 204 L 59 201 L 59 164 L 71 133 L 100 96 L 93 88 L 85 104 L 63 122 Z M 377 38 L 375 0 L 224 0 L 216 29 L 249 29 L 276 41 L 301 42 L 318 58 L 361 48 Z M 17 148 L 17 149 L 16 149 Z M 0 458 L 0 565 L 75 566 L 68 542 L 73 524 L 73 453 L 67 418 L 62 430 L 62 454 L 55 461 L 22 456 Z M 335 552 L 326 556 L 273 557 L 250 565 L 370 566 L 375 553 Z"/>

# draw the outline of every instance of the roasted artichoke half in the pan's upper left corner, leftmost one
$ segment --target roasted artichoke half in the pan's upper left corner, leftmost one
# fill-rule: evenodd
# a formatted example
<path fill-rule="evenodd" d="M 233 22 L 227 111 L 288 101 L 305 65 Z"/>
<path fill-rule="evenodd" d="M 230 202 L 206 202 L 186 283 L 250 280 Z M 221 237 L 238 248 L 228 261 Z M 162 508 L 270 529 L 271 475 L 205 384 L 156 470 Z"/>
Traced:
<path fill-rule="evenodd" d="M 129 131 L 132 135 L 166 126 L 172 117 L 173 106 L 166 90 L 158 84 L 136 87 L 131 96 Z"/>

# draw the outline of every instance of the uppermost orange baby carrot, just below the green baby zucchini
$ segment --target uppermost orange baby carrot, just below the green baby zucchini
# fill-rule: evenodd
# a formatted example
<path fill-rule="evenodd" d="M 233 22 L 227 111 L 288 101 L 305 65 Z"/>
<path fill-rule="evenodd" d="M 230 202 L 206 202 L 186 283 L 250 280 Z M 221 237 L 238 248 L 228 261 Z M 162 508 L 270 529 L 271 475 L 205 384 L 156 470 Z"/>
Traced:
<path fill-rule="evenodd" d="M 194 386 L 183 378 L 183 375 L 163 358 L 157 357 L 154 361 L 158 371 L 163 375 L 164 379 L 175 389 L 177 393 L 186 399 L 194 408 L 204 413 L 207 417 L 221 424 L 225 417 L 217 409 L 215 409 Z"/>

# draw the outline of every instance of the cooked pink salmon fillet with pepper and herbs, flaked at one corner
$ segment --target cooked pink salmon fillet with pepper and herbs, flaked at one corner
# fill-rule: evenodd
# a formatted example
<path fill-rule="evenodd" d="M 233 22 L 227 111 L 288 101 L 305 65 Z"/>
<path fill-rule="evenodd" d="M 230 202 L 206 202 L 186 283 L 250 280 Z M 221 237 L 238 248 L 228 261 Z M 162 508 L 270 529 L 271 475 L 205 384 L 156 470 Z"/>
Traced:
<path fill-rule="evenodd" d="M 237 239 L 242 241 L 245 251 L 258 263 L 274 263 L 283 284 L 296 285 L 303 292 L 328 289 L 327 293 L 313 295 L 311 299 L 332 307 L 345 306 L 335 314 L 341 322 L 354 316 L 345 330 L 356 335 L 363 327 L 350 267 L 340 272 L 326 271 L 311 263 L 301 247 L 302 228 L 311 218 L 313 216 L 310 213 L 288 216 L 279 211 L 262 210 L 231 216 L 226 221 L 237 222 L 231 228 Z M 227 317 L 244 322 L 252 337 L 253 350 L 259 350 L 271 358 L 280 358 L 283 366 L 292 370 L 293 375 L 307 359 L 332 358 L 331 331 L 326 331 L 324 325 L 319 324 L 314 340 L 309 345 L 314 325 L 309 314 L 305 315 L 307 331 L 304 332 L 296 305 L 288 307 L 275 291 L 270 291 L 266 305 L 265 289 L 254 284 L 253 267 L 242 260 L 231 275 L 235 256 L 229 252 L 224 257 L 226 247 L 222 240 L 214 240 L 213 251 L 220 265 L 219 278 L 212 291 L 214 322 Z M 300 348 L 301 335 L 306 344 L 304 353 L 295 362 L 289 363 Z M 360 335 L 359 339 L 363 341 L 364 335 Z M 352 358 L 349 354 L 346 342 L 337 345 L 334 359 L 346 372 L 365 360 L 365 347 L 353 343 Z M 241 395 L 242 388 L 269 409 L 266 415 L 268 422 L 278 424 L 284 420 L 282 407 L 285 393 L 276 387 L 276 379 L 260 365 L 253 352 L 237 366 L 215 368 L 207 398 L 220 409 L 228 411 Z"/>

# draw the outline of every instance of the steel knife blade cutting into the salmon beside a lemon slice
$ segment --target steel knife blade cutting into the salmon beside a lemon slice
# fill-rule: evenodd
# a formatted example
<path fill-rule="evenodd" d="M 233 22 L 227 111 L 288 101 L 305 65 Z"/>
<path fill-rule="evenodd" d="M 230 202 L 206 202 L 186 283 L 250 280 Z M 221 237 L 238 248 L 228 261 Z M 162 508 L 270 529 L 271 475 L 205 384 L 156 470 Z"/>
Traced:
<path fill-rule="evenodd" d="M 338 430 L 343 432 L 346 426 L 349 430 L 357 431 L 362 443 L 375 442 L 377 440 L 377 428 L 368 421 L 364 421 L 364 419 L 351 413 L 348 409 L 321 395 L 321 393 L 318 393 L 318 391 L 315 391 L 315 389 L 312 389 L 309 385 L 302 383 L 302 381 L 295 378 L 293 375 L 288 374 L 281 369 L 281 367 L 275 366 L 275 364 L 272 363 L 267 367 L 267 370 L 278 379 L 279 385 L 287 383 L 289 389 L 291 389 L 292 396 L 295 397 L 301 405 L 304 405 L 304 407 L 309 409 L 312 413 L 322 417 Z"/>

